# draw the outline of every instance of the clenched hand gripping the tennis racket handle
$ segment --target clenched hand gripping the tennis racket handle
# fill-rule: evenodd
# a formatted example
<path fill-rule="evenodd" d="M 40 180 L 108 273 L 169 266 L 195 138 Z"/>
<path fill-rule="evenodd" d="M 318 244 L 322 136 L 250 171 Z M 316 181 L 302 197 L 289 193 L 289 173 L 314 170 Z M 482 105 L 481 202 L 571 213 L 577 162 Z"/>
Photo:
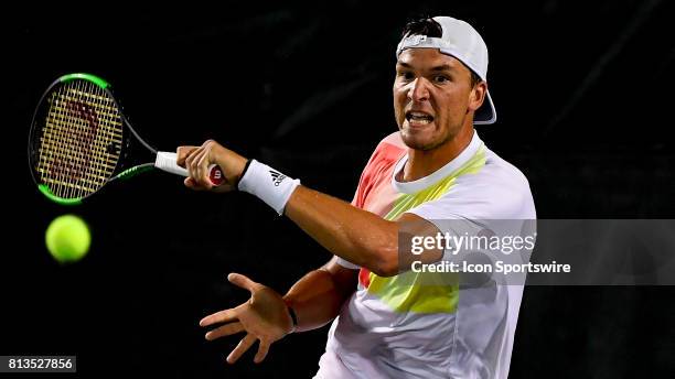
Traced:
<path fill-rule="evenodd" d="M 207 140 L 201 147 L 179 147 L 176 163 L 185 167 L 190 176 L 185 186 L 196 191 L 229 192 L 236 190 L 246 166 L 246 159 L 228 150 L 214 140 Z M 225 175 L 225 183 L 214 186 L 208 178 L 208 167 L 216 164 Z"/>

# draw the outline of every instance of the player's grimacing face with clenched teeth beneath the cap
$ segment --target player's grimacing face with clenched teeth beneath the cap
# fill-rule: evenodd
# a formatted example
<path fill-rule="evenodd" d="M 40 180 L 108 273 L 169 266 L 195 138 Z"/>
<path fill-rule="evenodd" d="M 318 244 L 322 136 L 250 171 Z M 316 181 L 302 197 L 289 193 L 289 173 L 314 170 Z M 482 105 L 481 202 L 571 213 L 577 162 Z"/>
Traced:
<path fill-rule="evenodd" d="M 468 111 L 482 104 L 484 84 L 476 88 L 457 58 L 438 48 L 405 50 L 396 63 L 394 111 L 406 145 L 429 151 L 451 141 L 467 123 Z"/>

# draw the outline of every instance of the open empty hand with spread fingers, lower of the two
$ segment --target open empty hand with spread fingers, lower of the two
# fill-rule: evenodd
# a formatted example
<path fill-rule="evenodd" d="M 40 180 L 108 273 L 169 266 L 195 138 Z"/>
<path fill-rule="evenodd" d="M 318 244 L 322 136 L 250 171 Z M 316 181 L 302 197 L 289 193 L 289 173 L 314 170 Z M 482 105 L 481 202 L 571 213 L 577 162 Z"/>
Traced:
<path fill-rule="evenodd" d="M 275 290 L 238 273 L 231 273 L 227 280 L 248 290 L 250 300 L 237 307 L 208 315 L 200 321 L 200 325 L 226 323 L 206 333 L 207 340 L 246 332 L 244 339 L 227 356 L 228 364 L 236 362 L 256 339 L 260 340 L 258 353 L 254 358 L 254 361 L 259 364 L 267 356 L 269 346 L 292 331 L 293 321 L 283 299 Z"/>

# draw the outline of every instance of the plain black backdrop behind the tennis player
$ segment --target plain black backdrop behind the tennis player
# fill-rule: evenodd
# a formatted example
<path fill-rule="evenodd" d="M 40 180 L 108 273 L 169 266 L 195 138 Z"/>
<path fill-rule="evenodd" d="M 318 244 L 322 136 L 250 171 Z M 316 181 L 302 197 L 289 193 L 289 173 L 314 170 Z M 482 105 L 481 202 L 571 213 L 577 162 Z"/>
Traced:
<path fill-rule="evenodd" d="M 311 377 L 325 328 L 275 344 L 262 365 L 249 353 L 228 366 L 239 338 L 206 343 L 197 322 L 247 299 L 228 272 L 283 292 L 329 252 L 249 195 L 192 193 L 162 173 L 53 205 L 25 159 L 32 111 L 60 75 L 93 73 L 154 147 L 213 138 L 350 201 L 395 130 L 394 51 L 420 13 L 464 19 L 486 41 L 499 121 L 478 130 L 528 177 L 539 218 L 675 216 L 668 1 L 4 9 L 0 355 L 77 355 L 82 377 Z M 44 231 L 65 213 L 89 223 L 93 246 L 64 267 Z M 674 294 L 526 288 L 511 378 L 673 377 Z"/>

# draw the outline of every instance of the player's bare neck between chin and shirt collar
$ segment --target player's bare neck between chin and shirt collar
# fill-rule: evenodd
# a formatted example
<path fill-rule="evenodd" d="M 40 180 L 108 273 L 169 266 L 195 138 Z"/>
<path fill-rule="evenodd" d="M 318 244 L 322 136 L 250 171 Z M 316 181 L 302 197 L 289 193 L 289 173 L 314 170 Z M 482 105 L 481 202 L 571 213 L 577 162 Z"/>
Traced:
<path fill-rule="evenodd" d="M 431 150 L 408 149 L 408 162 L 401 170 L 401 182 L 425 177 L 456 159 L 471 143 L 473 126 L 462 130 L 451 140 Z"/>

